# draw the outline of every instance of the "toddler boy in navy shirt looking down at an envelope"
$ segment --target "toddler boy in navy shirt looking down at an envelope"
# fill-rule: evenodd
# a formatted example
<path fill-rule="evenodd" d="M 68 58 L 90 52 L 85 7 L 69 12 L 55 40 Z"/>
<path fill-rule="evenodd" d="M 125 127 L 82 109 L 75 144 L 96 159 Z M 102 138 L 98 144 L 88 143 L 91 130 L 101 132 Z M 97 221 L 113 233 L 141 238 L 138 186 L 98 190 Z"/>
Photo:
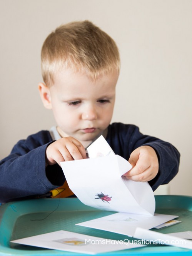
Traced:
<path fill-rule="evenodd" d="M 60 191 L 59 197 L 73 196 L 60 162 L 86 158 L 85 149 L 101 134 L 132 164 L 128 179 L 148 181 L 155 190 L 177 174 L 174 146 L 135 125 L 110 124 L 120 58 L 109 35 L 89 21 L 68 23 L 48 35 L 41 57 L 44 82 L 38 89 L 57 126 L 19 141 L 0 162 L 0 202 Z"/>

